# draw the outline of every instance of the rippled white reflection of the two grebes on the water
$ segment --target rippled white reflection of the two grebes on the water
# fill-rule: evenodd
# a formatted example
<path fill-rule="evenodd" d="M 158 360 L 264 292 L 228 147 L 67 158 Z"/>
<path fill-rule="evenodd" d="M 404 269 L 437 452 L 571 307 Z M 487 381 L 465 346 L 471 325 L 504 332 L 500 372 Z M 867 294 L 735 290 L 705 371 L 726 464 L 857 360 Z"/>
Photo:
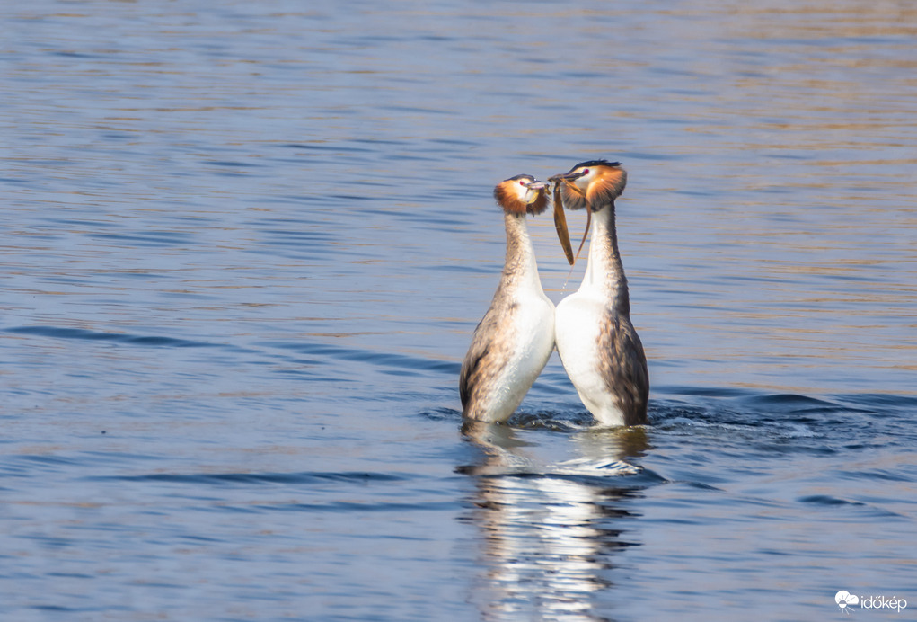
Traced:
<path fill-rule="evenodd" d="M 468 421 L 462 431 L 483 453 L 458 469 L 475 480 L 468 519 L 481 533 L 486 570 L 472 598 L 482 619 L 609 619 L 596 601 L 613 600 L 614 554 L 638 544 L 627 499 L 644 485 L 628 482 L 642 471 L 629 460 L 648 449 L 645 430 L 576 433 L 575 457 L 559 462 L 509 426 Z"/>

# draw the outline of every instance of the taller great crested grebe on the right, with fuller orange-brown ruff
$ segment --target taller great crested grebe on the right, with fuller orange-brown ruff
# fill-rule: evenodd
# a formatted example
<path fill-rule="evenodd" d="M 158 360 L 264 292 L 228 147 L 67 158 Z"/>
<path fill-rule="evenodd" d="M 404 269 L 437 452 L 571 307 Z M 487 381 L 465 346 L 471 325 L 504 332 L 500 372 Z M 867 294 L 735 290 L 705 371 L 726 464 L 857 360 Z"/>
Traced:
<path fill-rule="evenodd" d="M 627 279 L 614 229 L 614 199 L 627 173 L 619 162 L 580 162 L 550 178 L 570 209 L 591 219 L 589 261 L 580 289 L 558 304 L 555 339 L 560 361 L 583 405 L 603 426 L 646 423 L 649 372 L 630 321 Z M 587 221 L 588 222 L 588 221 Z"/>

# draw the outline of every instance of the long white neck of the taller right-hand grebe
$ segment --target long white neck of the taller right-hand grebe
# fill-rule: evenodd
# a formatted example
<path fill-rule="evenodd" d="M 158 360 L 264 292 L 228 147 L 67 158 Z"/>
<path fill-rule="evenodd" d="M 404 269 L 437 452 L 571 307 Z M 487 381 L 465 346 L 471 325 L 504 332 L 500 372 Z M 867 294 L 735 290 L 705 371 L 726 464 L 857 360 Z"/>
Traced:
<path fill-rule="evenodd" d="M 589 261 L 580 284 L 580 292 L 599 294 L 607 299 L 618 313 L 630 315 L 630 296 L 627 294 L 624 265 L 618 253 L 613 203 L 592 214 L 590 235 Z"/>

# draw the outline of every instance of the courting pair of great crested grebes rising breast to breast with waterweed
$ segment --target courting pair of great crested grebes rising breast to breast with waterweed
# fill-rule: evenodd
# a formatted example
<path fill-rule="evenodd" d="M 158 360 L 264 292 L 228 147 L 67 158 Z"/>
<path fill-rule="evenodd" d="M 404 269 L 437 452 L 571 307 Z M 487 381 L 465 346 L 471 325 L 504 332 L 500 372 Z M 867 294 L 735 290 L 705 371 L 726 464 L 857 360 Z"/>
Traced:
<path fill-rule="evenodd" d="M 630 321 L 627 279 L 614 228 L 614 199 L 627 173 L 618 162 L 580 162 L 548 179 L 558 237 L 572 263 L 563 206 L 587 209 L 589 260 L 580 289 L 558 304 L 545 295 L 525 217 L 547 209 L 548 184 L 517 175 L 493 191 L 503 207 L 506 262 L 490 308 L 474 330 L 458 379 L 463 416 L 502 423 L 513 415 L 551 350 L 602 426 L 646 423 L 649 372 Z"/>

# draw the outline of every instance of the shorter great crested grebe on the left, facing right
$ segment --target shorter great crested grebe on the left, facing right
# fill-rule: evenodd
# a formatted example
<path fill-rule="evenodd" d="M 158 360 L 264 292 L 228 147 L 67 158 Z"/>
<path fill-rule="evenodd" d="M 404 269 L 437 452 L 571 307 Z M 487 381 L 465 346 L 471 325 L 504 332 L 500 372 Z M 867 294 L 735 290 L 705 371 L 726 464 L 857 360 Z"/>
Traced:
<path fill-rule="evenodd" d="M 554 349 L 554 304 L 541 289 L 526 214 L 547 209 L 547 186 L 516 175 L 493 190 L 503 207 L 506 262 L 461 364 L 462 415 L 502 423 L 513 415 Z"/>

